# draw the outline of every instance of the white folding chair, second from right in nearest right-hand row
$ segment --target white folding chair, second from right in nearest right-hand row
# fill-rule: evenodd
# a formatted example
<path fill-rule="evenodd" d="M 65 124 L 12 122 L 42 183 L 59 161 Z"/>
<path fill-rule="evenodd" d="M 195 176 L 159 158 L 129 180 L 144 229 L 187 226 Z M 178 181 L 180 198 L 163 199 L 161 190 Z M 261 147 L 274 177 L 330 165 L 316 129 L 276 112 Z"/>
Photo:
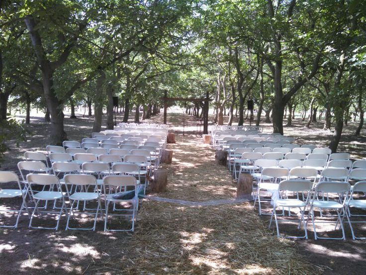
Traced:
<path fill-rule="evenodd" d="M 309 216 L 311 216 L 311 221 L 313 223 L 314 228 L 314 236 L 315 240 L 317 239 L 334 239 L 334 240 L 346 240 L 346 235 L 343 227 L 343 218 L 347 214 L 347 205 L 346 199 L 348 197 L 348 193 L 350 190 L 350 184 L 348 182 L 339 182 L 339 181 L 321 181 L 315 187 L 315 195 L 310 201 L 310 209 L 308 218 L 306 221 L 309 221 Z M 326 197 L 319 198 L 319 193 L 328 194 Z M 342 238 L 329 238 L 329 237 L 319 237 L 316 232 L 315 227 L 315 215 L 314 209 L 323 210 L 335 210 L 337 214 L 337 221 L 335 229 L 337 229 L 337 225 L 340 224 L 342 229 Z M 332 223 L 332 221 L 323 221 L 323 223 Z"/>

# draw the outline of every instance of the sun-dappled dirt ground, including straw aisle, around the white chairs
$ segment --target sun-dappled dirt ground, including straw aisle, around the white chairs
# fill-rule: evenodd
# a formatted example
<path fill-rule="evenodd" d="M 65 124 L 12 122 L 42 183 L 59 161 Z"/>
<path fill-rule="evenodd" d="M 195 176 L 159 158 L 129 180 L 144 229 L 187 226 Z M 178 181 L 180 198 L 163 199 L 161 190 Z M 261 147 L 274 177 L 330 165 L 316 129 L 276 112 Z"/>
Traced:
<path fill-rule="evenodd" d="M 49 125 L 33 119 L 28 126 L 33 135 L 19 148 L 11 146 L 0 170 L 16 171 L 26 150 L 44 151 Z M 152 121 L 161 123 L 162 115 Z M 169 145 L 174 159 L 164 166 L 168 191 L 159 196 L 187 201 L 233 198 L 236 182 L 225 167 L 214 164 L 214 151 L 201 144 L 200 123 L 185 115 L 183 136 L 183 113 L 168 114 L 168 121 L 177 144 Z M 264 132 L 272 131 L 271 125 L 263 126 Z M 331 133 L 321 130 L 321 122 L 310 129 L 303 126 L 297 119 L 284 132 L 301 144 L 327 145 Z M 91 127 L 92 118 L 65 120 L 71 140 L 89 136 Z M 353 159 L 366 153 L 365 131 L 356 138 L 356 127 L 345 127 L 339 147 Z M 5 204 L 9 201 L 1 201 L 0 207 Z M 268 229 L 269 217 L 258 216 L 252 203 L 188 207 L 144 200 L 134 233 L 104 233 L 102 221 L 96 232 L 65 231 L 65 224 L 63 217 L 57 232 L 28 229 L 24 215 L 17 230 L 0 229 L 0 274 L 362 274 L 366 267 L 365 241 L 352 241 L 347 224 L 346 241 L 315 241 L 310 224 L 309 240 L 277 238 L 275 228 Z M 365 229 L 358 227 L 360 234 L 366 235 Z M 281 232 L 297 233 L 290 224 L 282 225 Z"/>

